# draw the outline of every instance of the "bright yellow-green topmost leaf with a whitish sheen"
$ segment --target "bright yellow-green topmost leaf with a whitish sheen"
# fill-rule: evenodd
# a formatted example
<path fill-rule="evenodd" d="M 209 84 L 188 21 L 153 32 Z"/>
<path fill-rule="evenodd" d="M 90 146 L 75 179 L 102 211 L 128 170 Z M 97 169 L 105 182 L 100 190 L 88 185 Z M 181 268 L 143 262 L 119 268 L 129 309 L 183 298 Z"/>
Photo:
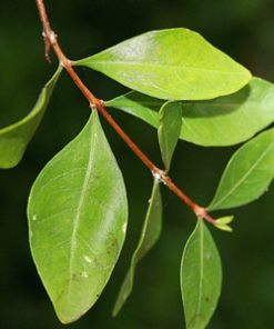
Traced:
<path fill-rule="evenodd" d="M 245 68 L 186 29 L 148 32 L 74 64 L 166 100 L 212 99 L 237 91 L 251 79 Z"/>

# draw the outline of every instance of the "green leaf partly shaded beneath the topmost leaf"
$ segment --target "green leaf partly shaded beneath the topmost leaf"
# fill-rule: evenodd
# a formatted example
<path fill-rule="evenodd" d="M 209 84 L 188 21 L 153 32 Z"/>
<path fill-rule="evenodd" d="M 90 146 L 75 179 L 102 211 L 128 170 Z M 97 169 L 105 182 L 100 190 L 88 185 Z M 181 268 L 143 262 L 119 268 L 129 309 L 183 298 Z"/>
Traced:
<path fill-rule="evenodd" d="M 106 102 L 159 128 L 163 103 L 139 92 Z M 180 138 L 201 146 L 230 146 L 253 137 L 274 121 L 274 86 L 252 78 L 239 92 L 207 101 L 182 102 Z"/>

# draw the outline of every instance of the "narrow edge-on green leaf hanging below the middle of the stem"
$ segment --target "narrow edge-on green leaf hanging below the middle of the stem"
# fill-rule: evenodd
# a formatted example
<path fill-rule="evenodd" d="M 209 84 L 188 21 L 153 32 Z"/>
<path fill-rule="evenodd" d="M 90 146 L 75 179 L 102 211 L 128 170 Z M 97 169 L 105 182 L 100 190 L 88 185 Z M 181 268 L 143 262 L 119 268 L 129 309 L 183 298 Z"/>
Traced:
<path fill-rule="evenodd" d="M 144 220 L 141 238 L 138 248 L 131 259 L 131 268 L 124 278 L 118 295 L 115 306 L 113 308 L 113 316 L 116 316 L 121 310 L 126 298 L 130 296 L 133 288 L 134 271 L 138 262 L 150 251 L 156 242 L 162 227 L 162 199 L 160 193 L 160 182 L 154 181 L 150 206 Z"/>

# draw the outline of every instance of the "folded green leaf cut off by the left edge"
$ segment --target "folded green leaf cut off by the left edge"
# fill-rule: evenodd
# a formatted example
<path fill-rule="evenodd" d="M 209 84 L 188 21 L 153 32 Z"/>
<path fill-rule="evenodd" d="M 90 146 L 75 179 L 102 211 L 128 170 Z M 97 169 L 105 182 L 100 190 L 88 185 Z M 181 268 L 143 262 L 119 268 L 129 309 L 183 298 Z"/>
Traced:
<path fill-rule="evenodd" d="M 42 120 L 61 71 L 62 68 L 59 67 L 42 89 L 33 109 L 24 119 L 0 130 L 0 168 L 12 168 L 21 161 L 28 143 Z"/>

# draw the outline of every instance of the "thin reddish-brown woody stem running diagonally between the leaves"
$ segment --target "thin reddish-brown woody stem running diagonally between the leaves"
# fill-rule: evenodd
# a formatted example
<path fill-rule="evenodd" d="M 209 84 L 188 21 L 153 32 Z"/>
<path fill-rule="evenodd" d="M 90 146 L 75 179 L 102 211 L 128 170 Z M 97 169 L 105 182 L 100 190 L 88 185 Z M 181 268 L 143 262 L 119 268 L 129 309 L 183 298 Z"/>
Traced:
<path fill-rule="evenodd" d="M 61 48 L 57 41 L 57 34 L 51 30 L 44 3 L 42 0 L 35 0 L 40 18 L 43 26 L 43 37 L 45 44 L 45 58 L 50 62 L 49 51 L 50 47 L 54 50 L 60 64 L 69 72 L 75 84 L 82 91 L 84 97 L 88 99 L 90 107 L 92 109 L 99 109 L 103 117 L 109 121 L 109 123 L 115 129 L 115 131 L 122 137 L 122 139 L 128 143 L 128 146 L 133 150 L 133 152 L 144 162 L 144 164 L 151 170 L 152 175 L 163 183 L 165 183 L 179 198 L 181 198 L 197 217 L 202 217 L 207 221 L 215 223 L 215 220 L 212 219 L 205 208 L 202 208 L 194 203 L 190 198 L 187 198 L 168 177 L 163 170 L 159 169 L 140 149 L 139 147 L 129 138 L 129 136 L 119 127 L 119 124 L 111 118 L 103 107 L 103 102 L 95 98 L 91 91 L 83 84 L 80 80 L 72 66 L 73 62 L 70 61 L 62 52 Z"/>

